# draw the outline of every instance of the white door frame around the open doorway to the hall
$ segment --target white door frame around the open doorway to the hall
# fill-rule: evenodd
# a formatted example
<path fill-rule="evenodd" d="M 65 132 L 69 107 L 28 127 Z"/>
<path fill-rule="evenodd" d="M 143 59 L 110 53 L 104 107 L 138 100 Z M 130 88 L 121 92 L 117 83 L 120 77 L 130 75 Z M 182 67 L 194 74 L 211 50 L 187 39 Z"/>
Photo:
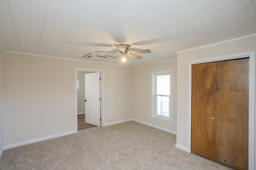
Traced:
<path fill-rule="evenodd" d="M 104 91 L 105 91 L 105 70 L 100 70 L 100 69 L 93 69 L 93 68 L 79 68 L 76 67 L 75 68 L 75 129 L 77 132 L 77 89 L 76 89 L 76 82 L 77 82 L 77 72 L 78 71 L 86 71 L 86 72 L 100 72 L 100 77 L 101 77 L 101 81 L 100 81 L 100 96 L 101 96 L 101 102 L 100 102 L 100 106 L 101 106 L 101 111 L 100 111 L 100 117 L 101 117 L 101 123 L 100 126 L 104 126 L 105 125 L 105 119 L 104 119 L 104 108 L 105 108 L 105 100 L 104 100 Z"/>

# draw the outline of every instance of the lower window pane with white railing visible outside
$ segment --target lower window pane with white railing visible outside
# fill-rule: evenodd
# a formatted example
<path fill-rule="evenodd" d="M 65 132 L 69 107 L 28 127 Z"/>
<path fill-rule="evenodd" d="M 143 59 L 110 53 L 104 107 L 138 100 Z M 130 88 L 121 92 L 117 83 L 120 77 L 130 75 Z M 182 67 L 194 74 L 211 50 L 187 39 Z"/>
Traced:
<path fill-rule="evenodd" d="M 169 117 L 169 96 L 156 96 L 156 114 Z"/>

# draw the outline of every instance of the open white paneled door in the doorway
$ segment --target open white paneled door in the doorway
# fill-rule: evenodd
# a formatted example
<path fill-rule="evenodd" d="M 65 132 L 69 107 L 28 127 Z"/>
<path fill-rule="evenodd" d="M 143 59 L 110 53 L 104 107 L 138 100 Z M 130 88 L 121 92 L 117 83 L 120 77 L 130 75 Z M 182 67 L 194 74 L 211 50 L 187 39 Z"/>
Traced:
<path fill-rule="evenodd" d="M 85 74 L 85 122 L 100 126 L 100 72 Z"/>

